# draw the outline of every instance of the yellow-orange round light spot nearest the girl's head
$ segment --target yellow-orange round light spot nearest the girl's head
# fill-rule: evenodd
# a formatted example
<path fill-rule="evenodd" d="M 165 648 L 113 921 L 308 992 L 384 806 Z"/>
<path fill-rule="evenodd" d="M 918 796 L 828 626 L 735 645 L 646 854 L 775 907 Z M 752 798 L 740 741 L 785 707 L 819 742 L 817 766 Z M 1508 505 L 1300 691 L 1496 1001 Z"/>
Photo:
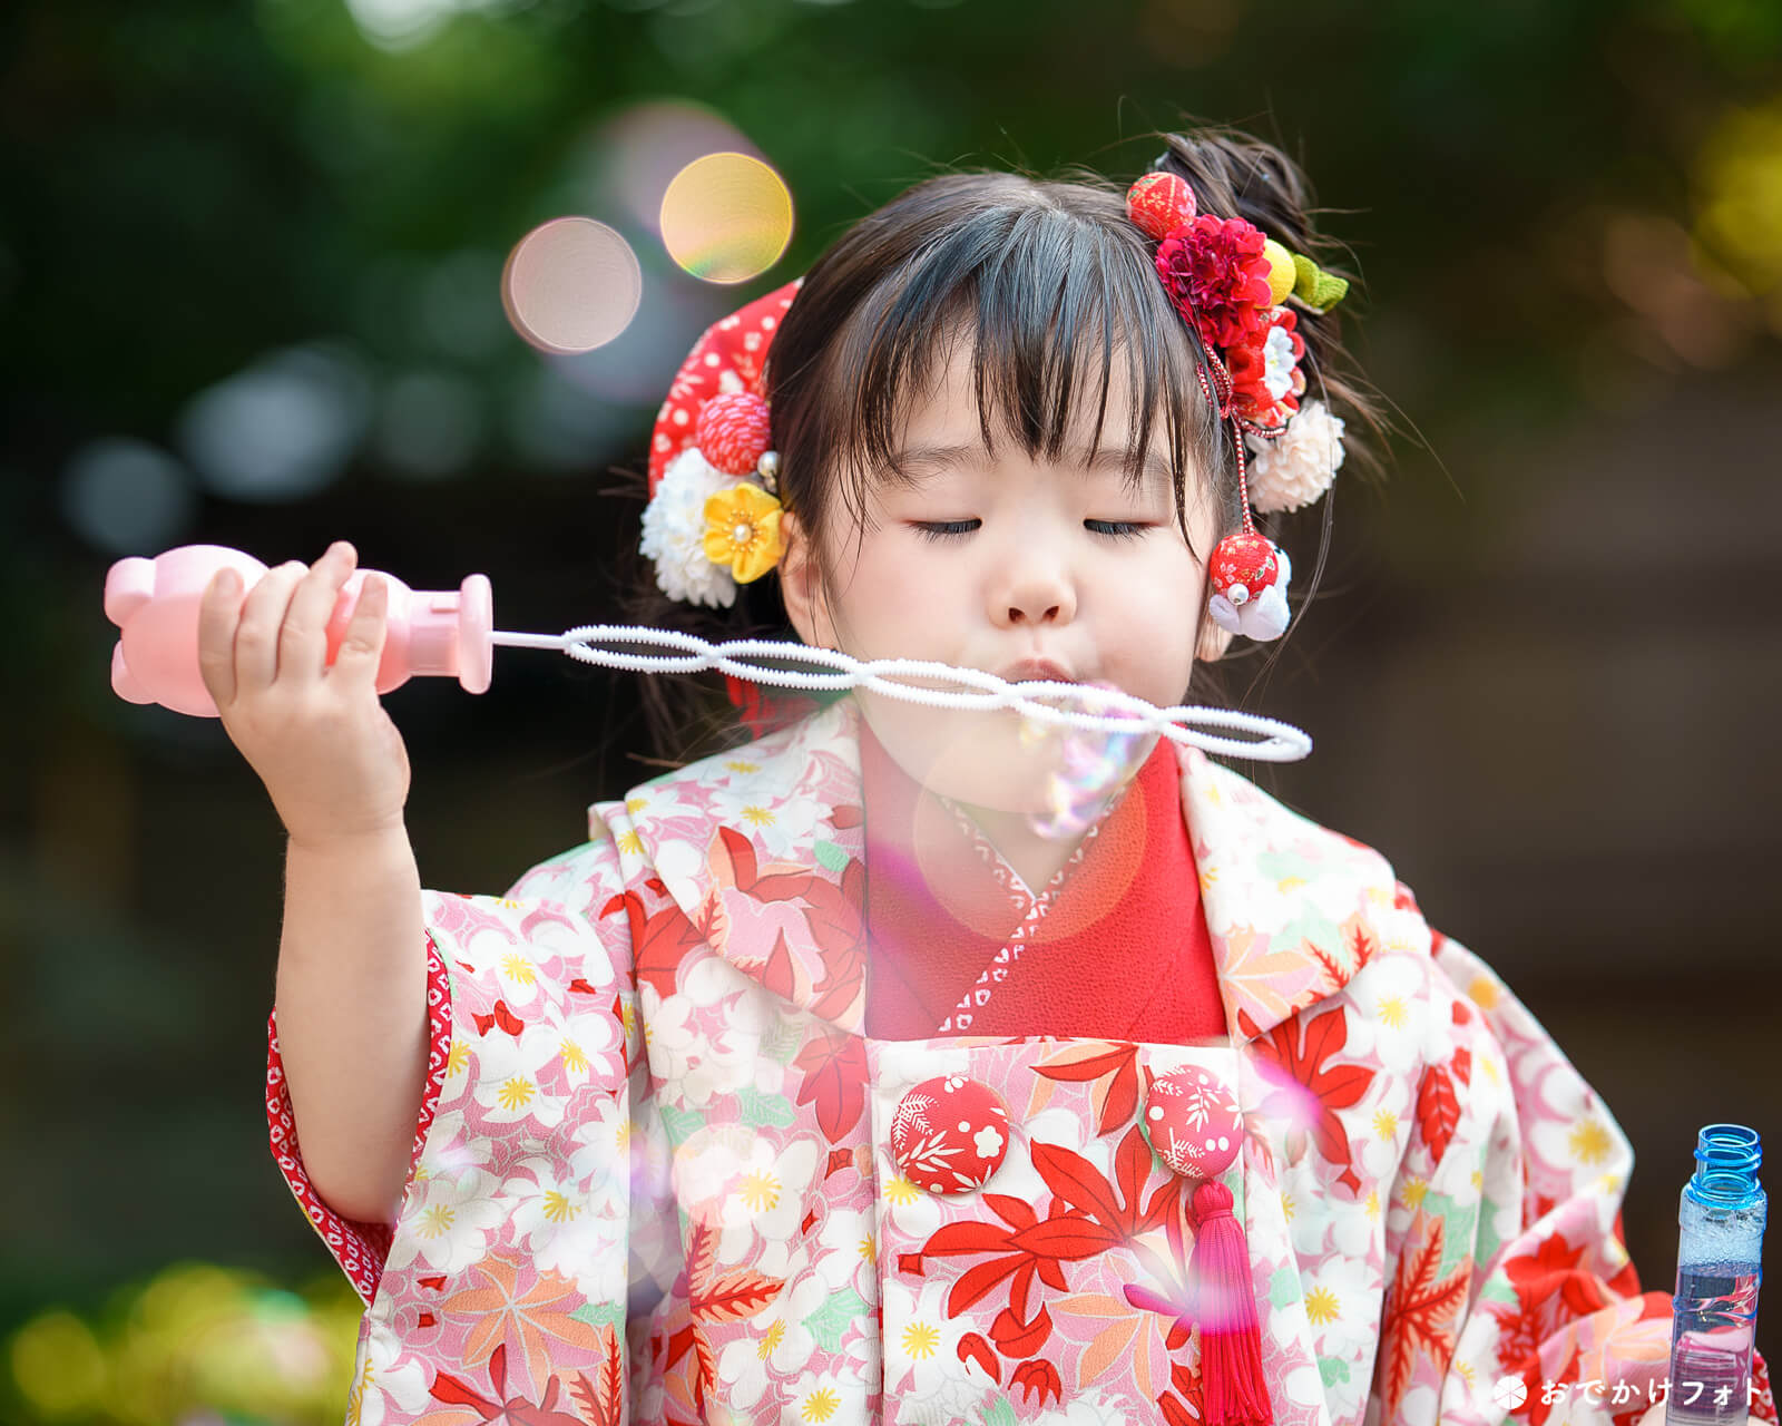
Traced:
<path fill-rule="evenodd" d="M 704 282 L 748 282 L 791 242 L 786 180 L 747 153 L 707 153 L 681 169 L 661 205 L 663 246 Z"/>

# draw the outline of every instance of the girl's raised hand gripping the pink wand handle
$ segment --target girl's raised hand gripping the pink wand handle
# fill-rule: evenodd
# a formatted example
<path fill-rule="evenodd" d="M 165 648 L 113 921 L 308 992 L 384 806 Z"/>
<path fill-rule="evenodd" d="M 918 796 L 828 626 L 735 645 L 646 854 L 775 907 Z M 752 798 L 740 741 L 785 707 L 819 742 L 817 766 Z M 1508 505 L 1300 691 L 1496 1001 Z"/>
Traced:
<path fill-rule="evenodd" d="M 388 588 L 369 578 L 333 665 L 328 617 L 358 554 L 335 542 L 271 569 L 242 599 L 221 570 L 198 606 L 198 667 L 223 727 L 290 840 L 326 847 L 403 825 L 408 750 L 378 701 Z"/>

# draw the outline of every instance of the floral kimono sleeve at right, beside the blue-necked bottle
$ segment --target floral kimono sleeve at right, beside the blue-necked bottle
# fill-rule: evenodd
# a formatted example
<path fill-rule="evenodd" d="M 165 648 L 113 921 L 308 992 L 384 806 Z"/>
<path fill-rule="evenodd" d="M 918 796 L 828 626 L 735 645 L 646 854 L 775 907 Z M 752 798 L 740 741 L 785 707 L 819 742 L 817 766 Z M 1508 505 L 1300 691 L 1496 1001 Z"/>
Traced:
<path fill-rule="evenodd" d="M 1620 1125 L 1534 1016 L 1436 934 L 1369 1422 L 1638 1422 L 1663 1397 L 1670 1294 L 1641 1292 L 1627 1255 L 1632 1166 Z M 1752 1397 L 1773 1422 L 1762 1362 Z"/>

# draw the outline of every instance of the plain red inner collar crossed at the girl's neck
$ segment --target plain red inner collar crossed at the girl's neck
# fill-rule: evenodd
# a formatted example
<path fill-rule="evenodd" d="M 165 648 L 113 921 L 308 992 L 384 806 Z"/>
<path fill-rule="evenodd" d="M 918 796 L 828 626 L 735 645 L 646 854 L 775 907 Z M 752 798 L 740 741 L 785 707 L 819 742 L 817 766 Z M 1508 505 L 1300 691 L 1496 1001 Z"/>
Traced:
<path fill-rule="evenodd" d="M 859 729 L 866 1034 L 1226 1034 L 1171 742 L 1030 891 L 969 816 L 909 777 L 864 718 Z"/>

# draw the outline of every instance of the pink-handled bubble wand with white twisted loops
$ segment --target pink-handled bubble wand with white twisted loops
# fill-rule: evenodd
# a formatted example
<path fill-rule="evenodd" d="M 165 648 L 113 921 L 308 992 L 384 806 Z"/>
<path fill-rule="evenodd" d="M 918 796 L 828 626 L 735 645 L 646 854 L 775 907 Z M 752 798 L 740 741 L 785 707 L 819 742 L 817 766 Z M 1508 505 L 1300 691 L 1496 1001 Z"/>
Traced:
<path fill-rule="evenodd" d="M 223 545 L 182 545 L 153 560 L 132 558 L 112 565 L 105 578 L 105 613 L 119 629 L 112 651 L 112 688 L 119 697 L 216 717 L 216 704 L 198 670 L 198 602 L 210 578 L 225 567 L 242 576 L 244 588 L 266 574 L 258 560 Z M 1312 752 L 1304 733 L 1276 718 L 1224 708 L 1157 708 L 1105 684 L 1009 683 L 996 674 L 950 663 L 907 658 L 862 661 L 838 649 L 766 638 L 711 643 L 677 629 L 631 624 L 583 624 L 560 635 L 495 629 L 494 594 L 483 574 L 467 576 L 456 592 L 449 592 L 410 590 L 394 576 L 356 570 L 328 619 L 330 663 L 365 579 L 374 574 L 388 583 L 390 594 L 388 633 L 376 679 L 380 693 L 417 674 L 451 676 L 472 693 L 486 692 L 494 649 L 501 645 L 554 649 L 581 663 L 636 674 L 716 670 L 748 683 L 811 693 L 864 688 L 927 708 L 1012 711 L 1035 725 L 1085 733 L 1155 733 L 1205 752 L 1263 763 L 1294 763 Z M 930 686 L 936 683 L 943 686 Z M 1224 736 L 1228 733 L 1247 736 Z"/>

